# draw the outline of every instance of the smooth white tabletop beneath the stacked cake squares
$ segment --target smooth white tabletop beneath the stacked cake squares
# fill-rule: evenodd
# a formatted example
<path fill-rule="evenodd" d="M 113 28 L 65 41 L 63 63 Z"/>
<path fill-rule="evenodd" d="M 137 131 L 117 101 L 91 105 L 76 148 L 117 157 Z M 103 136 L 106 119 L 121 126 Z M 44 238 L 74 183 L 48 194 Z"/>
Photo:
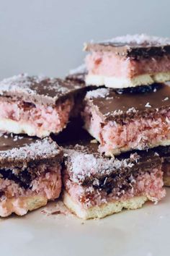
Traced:
<path fill-rule="evenodd" d="M 43 208 L 0 220 L 1 256 L 166 256 L 170 254 L 170 189 L 158 205 L 102 220 L 47 215 Z M 46 211 L 53 208 L 46 207 Z"/>

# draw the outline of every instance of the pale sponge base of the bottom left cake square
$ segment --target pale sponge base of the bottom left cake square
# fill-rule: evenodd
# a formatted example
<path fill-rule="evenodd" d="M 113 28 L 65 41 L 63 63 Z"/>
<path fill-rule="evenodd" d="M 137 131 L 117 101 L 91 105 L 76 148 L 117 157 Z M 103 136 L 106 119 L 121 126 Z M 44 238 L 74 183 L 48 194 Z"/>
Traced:
<path fill-rule="evenodd" d="M 28 211 L 35 210 L 46 205 L 48 199 L 41 196 L 33 197 L 20 197 L 6 199 L 0 202 L 0 216 L 7 217 L 12 213 L 16 213 L 18 216 L 25 215 Z"/>

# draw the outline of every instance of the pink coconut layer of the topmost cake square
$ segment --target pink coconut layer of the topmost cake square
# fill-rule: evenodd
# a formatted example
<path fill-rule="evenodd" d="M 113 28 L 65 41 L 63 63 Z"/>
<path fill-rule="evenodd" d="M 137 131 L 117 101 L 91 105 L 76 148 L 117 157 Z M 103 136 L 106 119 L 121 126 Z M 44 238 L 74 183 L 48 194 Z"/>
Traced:
<path fill-rule="evenodd" d="M 107 77 L 133 78 L 140 74 L 170 72 L 170 56 L 131 59 L 112 52 L 94 51 L 86 56 L 88 74 Z"/>

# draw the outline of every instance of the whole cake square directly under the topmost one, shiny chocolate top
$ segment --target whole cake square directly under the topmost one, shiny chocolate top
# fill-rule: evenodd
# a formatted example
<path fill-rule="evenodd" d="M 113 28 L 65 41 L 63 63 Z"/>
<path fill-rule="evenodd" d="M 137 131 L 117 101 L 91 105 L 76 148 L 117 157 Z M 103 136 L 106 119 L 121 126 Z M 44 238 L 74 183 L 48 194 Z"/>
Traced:
<path fill-rule="evenodd" d="M 82 115 L 106 155 L 170 145 L 169 85 L 89 91 Z"/>

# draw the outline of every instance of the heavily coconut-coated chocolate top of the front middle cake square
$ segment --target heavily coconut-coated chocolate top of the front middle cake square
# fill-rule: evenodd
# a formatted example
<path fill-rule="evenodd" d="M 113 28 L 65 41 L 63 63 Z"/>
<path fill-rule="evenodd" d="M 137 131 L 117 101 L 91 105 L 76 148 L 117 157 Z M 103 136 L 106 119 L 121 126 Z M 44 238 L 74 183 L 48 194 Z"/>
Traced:
<path fill-rule="evenodd" d="M 107 158 L 98 152 L 97 143 L 90 140 L 71 143 L 63 147 L 66 158 L 65 165 L 69 178 L 78 184 L 97 184 L 103 186 L 117 174 L 130 174 L 139 168 L 147 171 L 151 166 L 161 164 L 161 158 L 153 152 L 148 155 L 140 153 L 127 153 L 123 157 Z M 121 176 L 121 175 L 120 175 Z M 108 181 L 106 181 L 106 178 Z"/>

